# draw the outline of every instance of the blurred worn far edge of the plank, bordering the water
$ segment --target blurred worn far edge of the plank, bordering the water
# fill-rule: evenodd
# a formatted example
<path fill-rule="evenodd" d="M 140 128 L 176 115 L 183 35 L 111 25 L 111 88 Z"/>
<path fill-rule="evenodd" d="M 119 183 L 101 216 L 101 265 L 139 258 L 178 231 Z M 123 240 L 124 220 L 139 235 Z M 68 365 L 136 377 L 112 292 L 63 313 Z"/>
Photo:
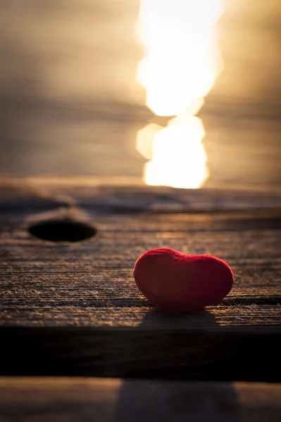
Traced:
<path fill-rule="evenodd" d="M 104 181 L 105 180 L 105 181 Z M 117 179 L 120 185 L 122 179 Z M 126 181 L 126 179 L 125 179 Z M 0 207 L 57 209 L 94 207 L 95 212 L 192 212 L 281 208 L 280 188 L 173 189 L 165 186 L 116 185 L 115 179 L 0 178 Z M 123 179 L 124 182 L 124 179 Z M 104 184 L 106 183 L 106 184 Z"/>

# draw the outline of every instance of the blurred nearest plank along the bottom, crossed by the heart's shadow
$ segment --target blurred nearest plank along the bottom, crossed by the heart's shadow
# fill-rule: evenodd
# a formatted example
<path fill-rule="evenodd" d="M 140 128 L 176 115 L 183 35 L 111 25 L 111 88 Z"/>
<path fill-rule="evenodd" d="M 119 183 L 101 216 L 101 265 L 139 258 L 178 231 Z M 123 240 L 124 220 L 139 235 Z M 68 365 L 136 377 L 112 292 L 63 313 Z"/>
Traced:
<path fill-rule="evenodd" d="M 0 378 L 0 421 L 279 422 L 281 385 Z"/>

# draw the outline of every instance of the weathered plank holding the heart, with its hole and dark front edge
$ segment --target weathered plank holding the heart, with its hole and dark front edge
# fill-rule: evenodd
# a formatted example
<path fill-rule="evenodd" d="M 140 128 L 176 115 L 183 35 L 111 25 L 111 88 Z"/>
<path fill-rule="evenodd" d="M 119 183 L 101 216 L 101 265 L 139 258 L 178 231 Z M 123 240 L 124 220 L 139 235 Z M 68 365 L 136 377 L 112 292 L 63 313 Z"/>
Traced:
<path fill-rule="evenodd" d="M 42 186 L 3 187 L 0 373 L 281 379 L 277 192 Z M 28 232 L 64 218 L 97 235 L 70 244 Z M 159 246 L 221 257 L 232 292 L 193 314 L 151 307 L 132 268 Z"/>

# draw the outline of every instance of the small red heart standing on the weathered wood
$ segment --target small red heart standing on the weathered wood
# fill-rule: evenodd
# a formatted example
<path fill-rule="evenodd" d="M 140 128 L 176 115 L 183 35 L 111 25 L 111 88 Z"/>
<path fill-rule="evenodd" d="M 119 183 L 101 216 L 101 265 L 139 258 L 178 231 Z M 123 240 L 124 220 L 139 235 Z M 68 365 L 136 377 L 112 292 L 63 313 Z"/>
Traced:
<path fill-rule="evenodd" d="M 230 266 L 209 255 L 185 255 L 173 249 L 151 249 L 134 268 L 139 290 L 153 305 L 187 312 L 214 305 L 230 293 Z"/>

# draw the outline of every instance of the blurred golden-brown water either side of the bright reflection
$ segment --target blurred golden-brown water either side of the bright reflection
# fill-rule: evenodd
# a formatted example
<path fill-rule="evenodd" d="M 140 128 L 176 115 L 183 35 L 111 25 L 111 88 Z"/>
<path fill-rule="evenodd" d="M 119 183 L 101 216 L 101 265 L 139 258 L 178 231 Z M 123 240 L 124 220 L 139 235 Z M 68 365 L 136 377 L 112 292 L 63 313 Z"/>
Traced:
<path fill-rule="evenodd" d="M 0 0 L 0 172 L 142 177 L 138 0 Z M 280 186 L 281 3 L 228 0 L 225 69 L 199 113 L 211 178 Z M 165 118 L 161 122 L 165 121 Z"/>

